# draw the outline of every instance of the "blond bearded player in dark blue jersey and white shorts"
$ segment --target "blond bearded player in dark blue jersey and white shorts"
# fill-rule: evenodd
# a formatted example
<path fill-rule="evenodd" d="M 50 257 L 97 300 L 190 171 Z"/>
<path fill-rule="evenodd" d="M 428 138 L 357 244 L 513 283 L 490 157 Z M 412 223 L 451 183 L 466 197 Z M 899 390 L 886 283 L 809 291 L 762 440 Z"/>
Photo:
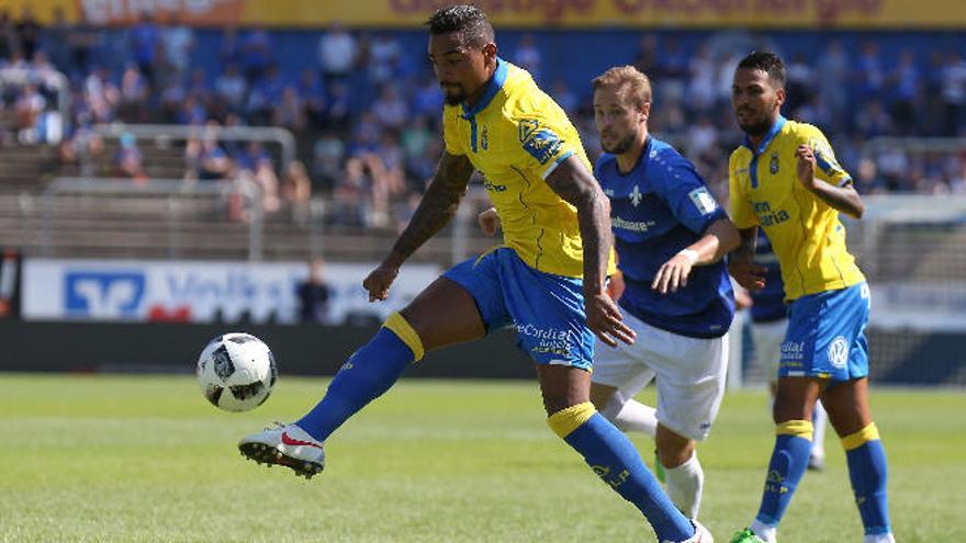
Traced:
<path fill-rule="evenodd" d="M 694 519 L 704 488 L 695 441 L 707 438 L 721 405 L 734 316 L 722 257 L 740 240 L 694 166 L 649 134 L 650 112 L 651 83 L 636 68 L 594 80 L 606 151 L 594 174 L 610 199 L 620 307 L 637 341 L 596 346 L 591 398 L 618 428 L 655 438 L 667 494 Z M 484 230 L 493 216 L 481 216 Z M 633 399 L 655 376 L 656 412 Z"/>

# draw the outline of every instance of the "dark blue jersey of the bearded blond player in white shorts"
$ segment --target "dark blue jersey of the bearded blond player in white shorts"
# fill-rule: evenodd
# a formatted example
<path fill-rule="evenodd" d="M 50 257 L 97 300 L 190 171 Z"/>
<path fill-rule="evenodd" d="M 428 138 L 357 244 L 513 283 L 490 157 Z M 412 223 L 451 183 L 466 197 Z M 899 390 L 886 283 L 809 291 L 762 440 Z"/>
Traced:
<path fill-rule="evenodd" d="M 649 137 L 628 173 L 604 154 L 594 166 L 610 199 L 610 222 L 626 290 L 620 306 L 651 326 L 682 336 L 723 336 L 734 317 L 724 262 L 692 269 L 687 286 L 661 294 L 651 289 L 658 270 L 727 218 L 694 166 L 664 142 Z"/>

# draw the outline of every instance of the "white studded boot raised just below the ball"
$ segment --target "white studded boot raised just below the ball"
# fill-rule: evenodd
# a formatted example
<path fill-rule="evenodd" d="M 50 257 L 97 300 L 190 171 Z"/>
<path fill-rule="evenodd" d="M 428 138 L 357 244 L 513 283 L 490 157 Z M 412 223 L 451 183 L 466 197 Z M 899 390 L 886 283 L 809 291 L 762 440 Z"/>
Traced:
<path fill-rule="evenodd" d="M 312 478 L 325 468 L 323 443 L 295 425 L 276 422 L 274 427 L 242 438 L 238 450 L 248 460 L 269 466 L 278 464 Z"/>

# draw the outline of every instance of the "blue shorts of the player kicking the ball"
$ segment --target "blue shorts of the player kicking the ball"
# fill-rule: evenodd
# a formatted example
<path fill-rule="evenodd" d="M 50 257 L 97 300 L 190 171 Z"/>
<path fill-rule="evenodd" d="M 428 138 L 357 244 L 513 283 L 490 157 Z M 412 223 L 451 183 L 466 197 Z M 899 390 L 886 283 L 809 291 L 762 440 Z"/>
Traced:
<path fill-rule="evenodd" d="M 470 292 L 487 332 L 513 325 L 517 347 L 538 364 L 591 370 L 595 337 L 580 279 L 537 271 L 508 247 L 460 262 L 443 276 Z"/>

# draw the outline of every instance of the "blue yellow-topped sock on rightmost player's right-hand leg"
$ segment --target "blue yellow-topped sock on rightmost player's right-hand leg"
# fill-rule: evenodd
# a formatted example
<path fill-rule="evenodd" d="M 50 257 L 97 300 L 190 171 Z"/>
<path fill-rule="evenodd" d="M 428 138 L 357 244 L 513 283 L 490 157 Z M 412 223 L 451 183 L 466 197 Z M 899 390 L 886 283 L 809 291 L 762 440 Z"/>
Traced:
<path fill-rule="evenodd" d="M 866 535 L 890 534 L 889 510 L 886 499 L 886 450 L 875 422 L 842 438 L 849 478 L 858 505 L 858 514 Z"/>

